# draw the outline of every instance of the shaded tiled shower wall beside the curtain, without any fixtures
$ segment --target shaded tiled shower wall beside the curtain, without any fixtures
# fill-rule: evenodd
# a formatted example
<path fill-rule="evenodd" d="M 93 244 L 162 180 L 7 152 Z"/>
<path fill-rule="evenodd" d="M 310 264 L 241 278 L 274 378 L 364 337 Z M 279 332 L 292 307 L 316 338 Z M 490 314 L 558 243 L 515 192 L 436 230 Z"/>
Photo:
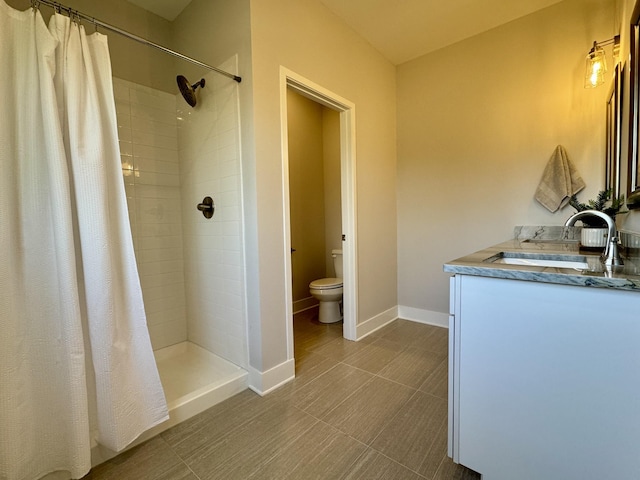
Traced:
<path fill-rule="evenodd" d="M 118 135 L 154 349 L 187 339 L 176 97 L 114 78 Z"/>

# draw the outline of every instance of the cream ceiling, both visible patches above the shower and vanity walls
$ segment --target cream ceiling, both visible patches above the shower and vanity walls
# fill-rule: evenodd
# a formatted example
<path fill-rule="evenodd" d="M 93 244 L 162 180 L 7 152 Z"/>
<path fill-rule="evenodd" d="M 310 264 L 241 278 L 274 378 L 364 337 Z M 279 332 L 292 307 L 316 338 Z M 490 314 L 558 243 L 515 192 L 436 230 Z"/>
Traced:
<path fill-rule="evenodd" d="M 174 20 L 191 0 L 129 1 Z M 320 0 L 395 65 L 560 1 Z"/>

